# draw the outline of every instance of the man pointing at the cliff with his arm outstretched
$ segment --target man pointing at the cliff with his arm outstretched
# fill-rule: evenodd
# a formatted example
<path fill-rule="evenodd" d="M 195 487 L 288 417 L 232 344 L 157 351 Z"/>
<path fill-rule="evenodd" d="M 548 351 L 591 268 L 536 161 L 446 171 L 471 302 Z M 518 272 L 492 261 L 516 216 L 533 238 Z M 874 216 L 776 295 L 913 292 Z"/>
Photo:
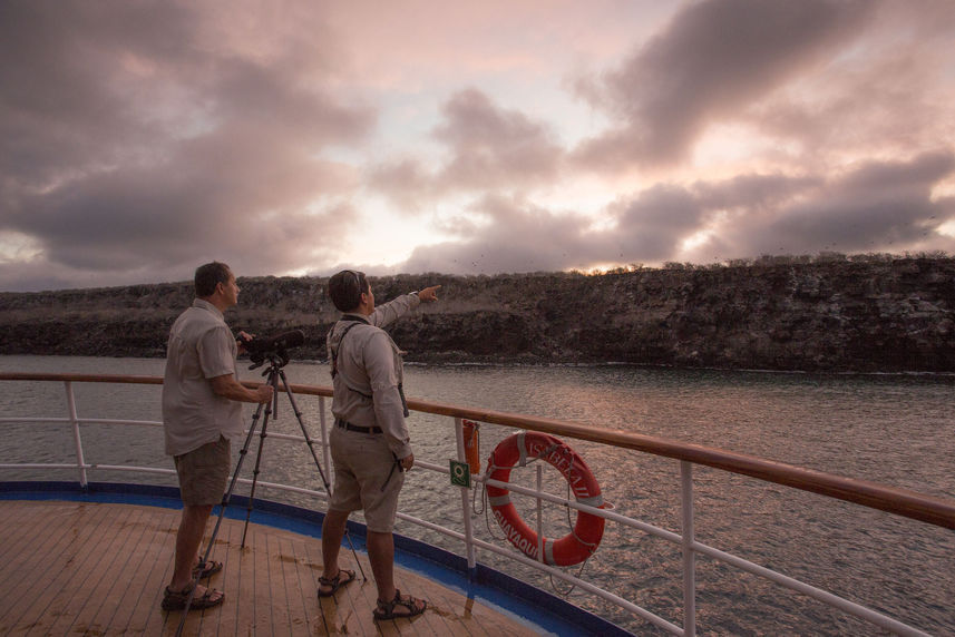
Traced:
<path fill-rule="evenodd" d="M 345 270 L 329 280 L 329 296 L 343 315 L 329 332 L 332 364 L 332 414 L 329 437 L 335 487 L 322 525 L 324 572 L 319 597 L 329 597 L 354 579 L 338 565 L 345 522 L 363 510 L 368 526 L 368 558 L 378 587 L 376 619 L 411 617 L 426 602 L 401 596 L 394 587 L 392 528 L 405 473 L 415 464 L 405 418 L 401 352 L 381 326 L 397 321 L 421 302 L 437 301 L 440 286 L 427 287 L 374 306 L 363 273 Z"/>

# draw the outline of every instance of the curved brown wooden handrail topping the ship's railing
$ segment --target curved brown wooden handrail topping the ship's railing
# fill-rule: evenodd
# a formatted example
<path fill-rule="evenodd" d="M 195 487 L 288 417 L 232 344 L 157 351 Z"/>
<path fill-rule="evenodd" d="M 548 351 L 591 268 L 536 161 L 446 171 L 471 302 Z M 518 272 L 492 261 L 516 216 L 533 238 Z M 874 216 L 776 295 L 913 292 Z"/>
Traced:
<path fill-rule="evenodd" d="M 163 384 L 158 376 L 138 376 L 119 374 L 50 374 L 30 372 L 0 372 L 0 381 L 69 381 L 69 382 L 104 382 L 104 383 L 138 383 L 138 384 Z M 262 384 L 261 382 L 243 381 L 250 388 Z M 291 384 L 294 393 L 306 395 L 331 396 L 332 389 L 320 385 Z M 663 455 L 676 460 L 684 460 L 694 464 L 703 464 L 749 476 L 767 482 L 783 484 L 802 491 L 810 491 L 828 496 L 838 500 L 845 500 L 861 504 L 870 509 L 877 509 L 889 513 L 919 520 L 937 527 L 955 529 L 955 501 L 919 493 L 908 489 L 886 487 L 875 482 L 845 478 L 812 469 L 805 469 L 785 462 L 766 460 L 756 455 L 735 453 L 721 449 L 713 449 L 700 444 L 679 442 L 654 435 L 633 433 L 630 431 L 603 429 L 598 427 L 547 419 L 530 415 L 515 414 L 500 411 L 472 409 L 459 405 L 444 404 L 417 399 L 408 400 L 408 408 L 447 415 L 516 427 L 520 429 L 540 431 L 578 440 L 600 442 L 622 449 L 643 451 L 654 455 Z"/>

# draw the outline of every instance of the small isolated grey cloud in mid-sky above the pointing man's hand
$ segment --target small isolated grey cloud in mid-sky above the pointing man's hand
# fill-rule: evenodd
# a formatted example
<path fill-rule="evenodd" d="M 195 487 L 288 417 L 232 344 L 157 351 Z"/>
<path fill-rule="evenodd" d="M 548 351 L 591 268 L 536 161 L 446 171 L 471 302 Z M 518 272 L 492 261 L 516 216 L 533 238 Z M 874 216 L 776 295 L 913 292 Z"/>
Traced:
<path fill-rule="evenodd" d="M 451 96 L 441 116 L 432 135 L 447 148 L 446 161 L 431 171 L 407 158 L 378 166 L 369 176 L 373 188 L 413 207 L 447 193 L 526 188 L 557 177 L 564 149 L 545 124 L 475 89 Z"/>

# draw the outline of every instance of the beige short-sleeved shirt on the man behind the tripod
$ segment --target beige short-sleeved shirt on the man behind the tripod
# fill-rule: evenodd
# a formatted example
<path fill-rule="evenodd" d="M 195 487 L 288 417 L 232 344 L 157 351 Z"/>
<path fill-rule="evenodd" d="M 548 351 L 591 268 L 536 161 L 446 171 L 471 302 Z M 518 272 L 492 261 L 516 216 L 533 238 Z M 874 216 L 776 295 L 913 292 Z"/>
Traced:
<path fill-rule="evenodd" d="M 242 435 L 242 403 L 213 392 L 209 379 L 235 373 L 238 346 L 222 312 L 196 298 L 169 332 L 163 382 L 166 453 L 182 455 L 220 435 Z"/>

